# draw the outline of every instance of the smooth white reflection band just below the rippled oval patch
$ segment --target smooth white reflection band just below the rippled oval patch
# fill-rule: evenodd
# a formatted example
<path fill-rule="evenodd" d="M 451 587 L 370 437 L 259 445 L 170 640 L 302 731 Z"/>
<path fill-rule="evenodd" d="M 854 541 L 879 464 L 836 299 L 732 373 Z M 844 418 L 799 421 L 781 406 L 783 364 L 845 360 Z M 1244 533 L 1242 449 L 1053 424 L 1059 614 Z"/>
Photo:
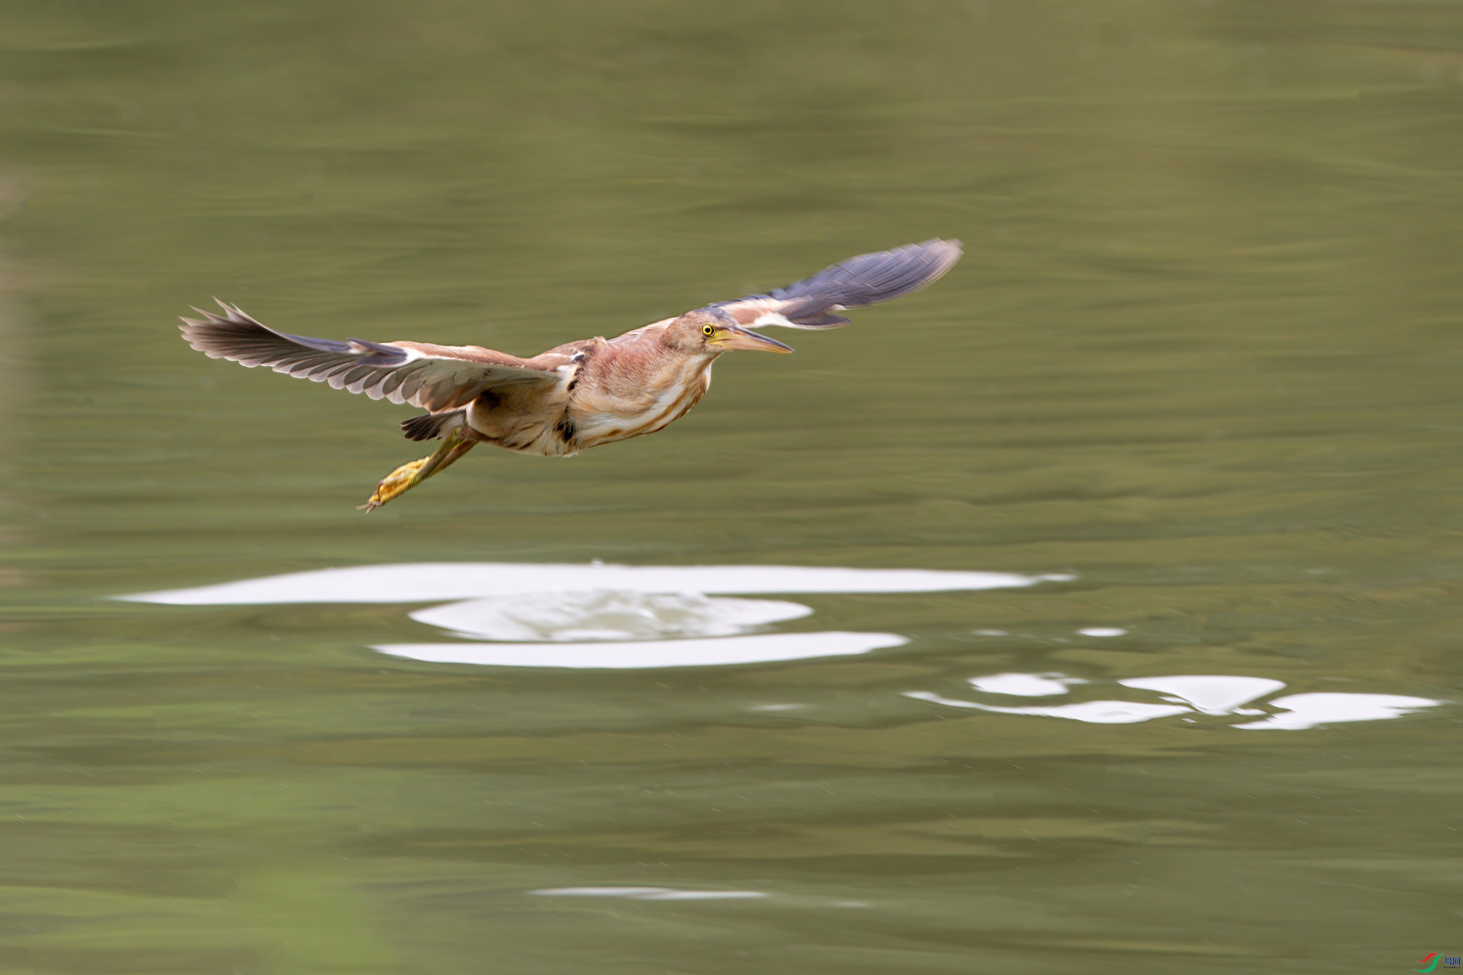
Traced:
<path fill-rule="evenodd" d="M 909 640 L 897 633 L 765 633 L 714 640 L 635 640 L 603 643 L 385 643 L 373 650 L 429 664 L 493 667 L 724 667 L 772 664 L 811 656 L 849 656 Z"/>

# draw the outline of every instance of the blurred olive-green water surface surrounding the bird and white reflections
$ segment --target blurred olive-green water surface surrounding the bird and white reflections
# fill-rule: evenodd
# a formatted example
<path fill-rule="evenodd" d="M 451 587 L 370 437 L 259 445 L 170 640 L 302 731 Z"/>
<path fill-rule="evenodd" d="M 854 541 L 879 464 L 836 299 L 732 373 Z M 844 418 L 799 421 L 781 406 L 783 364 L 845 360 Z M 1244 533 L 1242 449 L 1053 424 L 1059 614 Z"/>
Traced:
<path fill-rule="evenodd" d="M 1463 7 L 0 6 L 0 971 L 1404 972 L 1463 955 Z M 960 237 L 652 437 L 478 449 L 203 358 L 534 354 Z M 860 656 L 430 664 L 420 561 L 1071 574 L 783 595 Z M 1093 637 L 1081 629 L 1127 630 Z M 999 631 L 976 633 L 977 630 Z M 1069 694 L 983 694 L 1062 674 Z M 1091 724 L 1165 675 L 1443 702 Z M 1050 678 L 1049 678 L 1050 680 Z M 1251 702 L 1264 715 L 1280 713 Z M 764 896 L 546 896 L 664 887 Z M 1441 968 L 1438 969 L 1443 971 Z"/>

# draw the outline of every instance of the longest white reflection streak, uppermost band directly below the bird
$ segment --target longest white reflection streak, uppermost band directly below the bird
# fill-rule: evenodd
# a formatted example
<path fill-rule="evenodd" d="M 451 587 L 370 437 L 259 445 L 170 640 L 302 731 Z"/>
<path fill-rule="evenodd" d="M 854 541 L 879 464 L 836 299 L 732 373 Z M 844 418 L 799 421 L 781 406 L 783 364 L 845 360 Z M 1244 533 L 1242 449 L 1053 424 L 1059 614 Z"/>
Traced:
<path fill-rule="evenodd" d="M 116 596 L 171 605 L 263 602 L 446 602 L 543 592 L 949 592 L 1008 589 L 1072 576 L 926 569 L 816 569 L 805 566 L 588 566 L 534 563 L 407 563 L 294 572 L 217 586 Z"/>

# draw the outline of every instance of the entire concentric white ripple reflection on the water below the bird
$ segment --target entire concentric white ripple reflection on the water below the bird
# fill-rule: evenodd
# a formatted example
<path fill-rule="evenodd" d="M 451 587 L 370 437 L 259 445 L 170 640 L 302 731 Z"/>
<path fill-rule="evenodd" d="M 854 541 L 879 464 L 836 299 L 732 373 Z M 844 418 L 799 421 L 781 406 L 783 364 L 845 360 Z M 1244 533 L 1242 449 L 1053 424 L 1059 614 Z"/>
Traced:
<path fill-rule="evenodd" d="M 418 563 L 297 572 L 116 598 L 170 605 L 456 601 L 410 615 L 452 636 L 512 642 L 388 643 L 372 649 L 437 664 L 639 668 L 843 656 L 909 642 L 897 633 L 745 636 L 812 610 L 707 593 L 951 592 L 1068 579 L 1072 576 L 925 569 Z"/>

